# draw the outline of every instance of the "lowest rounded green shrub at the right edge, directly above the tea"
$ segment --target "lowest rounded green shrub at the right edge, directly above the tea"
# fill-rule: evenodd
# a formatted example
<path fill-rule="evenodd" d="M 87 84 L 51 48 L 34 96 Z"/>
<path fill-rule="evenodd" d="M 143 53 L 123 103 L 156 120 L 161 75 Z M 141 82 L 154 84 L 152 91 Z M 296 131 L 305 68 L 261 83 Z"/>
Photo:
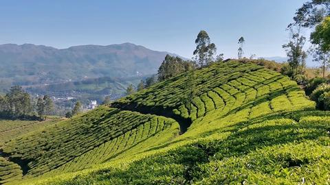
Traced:
<path fill-rule="evenodd" d="M 330 84 L 320 84 L 316 90 L 311 93 L 311 99 L 316 101 L 316 107 L 325 110 L 325 101 L 329 101 Z M 325 94 L 325 95 L 324 95 Z M 327 97 L 328 96 L 328 97 Z"/>

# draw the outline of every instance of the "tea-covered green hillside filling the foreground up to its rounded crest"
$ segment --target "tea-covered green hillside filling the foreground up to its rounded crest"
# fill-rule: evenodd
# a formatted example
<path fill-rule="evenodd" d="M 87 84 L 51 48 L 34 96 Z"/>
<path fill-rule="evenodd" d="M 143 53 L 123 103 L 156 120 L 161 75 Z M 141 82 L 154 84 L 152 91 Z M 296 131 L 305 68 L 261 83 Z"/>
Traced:
<path fill-rule="evenodd" d="M 6 142 L 0 184 L 329 184 L 330 112 L 232 60 Z M 21 179 L 21 180 L 18 180 Z"/>

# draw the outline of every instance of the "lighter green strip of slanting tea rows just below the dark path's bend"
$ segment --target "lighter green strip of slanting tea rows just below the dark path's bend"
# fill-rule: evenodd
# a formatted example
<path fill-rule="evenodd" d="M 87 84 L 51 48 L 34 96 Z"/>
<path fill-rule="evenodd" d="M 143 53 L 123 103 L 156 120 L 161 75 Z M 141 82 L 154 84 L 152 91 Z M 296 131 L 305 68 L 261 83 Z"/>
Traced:
<path fill-rule="evenodd" d="M 115 158 L 116 156 L 128 151 L 132 147 L 137 146 L 148 138 L 159 137 L 162 142 L 168 141 L 172 134 L 166 136 L 165 133 L 175 130 L 178 132 L 178 125 L 171 119 L 166 119 L 162 116 L 154 116 L 151 121 L 148 121 L 133 130 L 122 134 L 121 136 L 114 138 L 113 140 L 103 143 L 100 147 L 96 147 L 82 156 L 74 158 L 70 162 L 67 162 L 56 171 L 78 171 L 93 167 L 96 164 L 100 164 Z M 163 133 L 162 133 L 163 132 Z M 160 138 L 161 137 L 161 138 Z M 150 143 L 148 147 L 153 147 L 156 143 Z M 148 149 L 143 147 L 143 150 Z M 130 151 L 129 155 L 133 155 L 134 152 Z"/>

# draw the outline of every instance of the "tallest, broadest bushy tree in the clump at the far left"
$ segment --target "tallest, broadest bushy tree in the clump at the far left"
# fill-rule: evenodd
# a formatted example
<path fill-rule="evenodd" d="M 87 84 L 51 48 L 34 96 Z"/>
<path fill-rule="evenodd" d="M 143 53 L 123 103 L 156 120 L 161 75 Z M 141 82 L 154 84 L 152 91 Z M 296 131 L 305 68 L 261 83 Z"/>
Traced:
<path fill-rule="evenodd" d="M 31 98 L 21 86 L 13 86 L 7 93 L 8 107 L 14 116 L 24 116 L 31 112 Z"/>

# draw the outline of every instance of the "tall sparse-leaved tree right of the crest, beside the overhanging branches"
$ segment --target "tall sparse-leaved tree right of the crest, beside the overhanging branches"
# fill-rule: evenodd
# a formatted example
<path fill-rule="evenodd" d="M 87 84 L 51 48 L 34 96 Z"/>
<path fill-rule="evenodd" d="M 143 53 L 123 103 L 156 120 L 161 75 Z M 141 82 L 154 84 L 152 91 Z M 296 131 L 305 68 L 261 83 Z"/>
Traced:
<path fill-rule="evenodd" d="M 294 75 L 298 75 L 299 73 L 303 73 L 303 69 L 305 68 L 307 53 L 303 50 L 303 47 L 306 42 L 306 38 L 301 36 L 300 34 L 301 26 L 297 26 L 296 30 L 291 27 L 291 38 L 286 45 L 282 47 L 285 49 L 287 53 L 287 62 Z"/>

